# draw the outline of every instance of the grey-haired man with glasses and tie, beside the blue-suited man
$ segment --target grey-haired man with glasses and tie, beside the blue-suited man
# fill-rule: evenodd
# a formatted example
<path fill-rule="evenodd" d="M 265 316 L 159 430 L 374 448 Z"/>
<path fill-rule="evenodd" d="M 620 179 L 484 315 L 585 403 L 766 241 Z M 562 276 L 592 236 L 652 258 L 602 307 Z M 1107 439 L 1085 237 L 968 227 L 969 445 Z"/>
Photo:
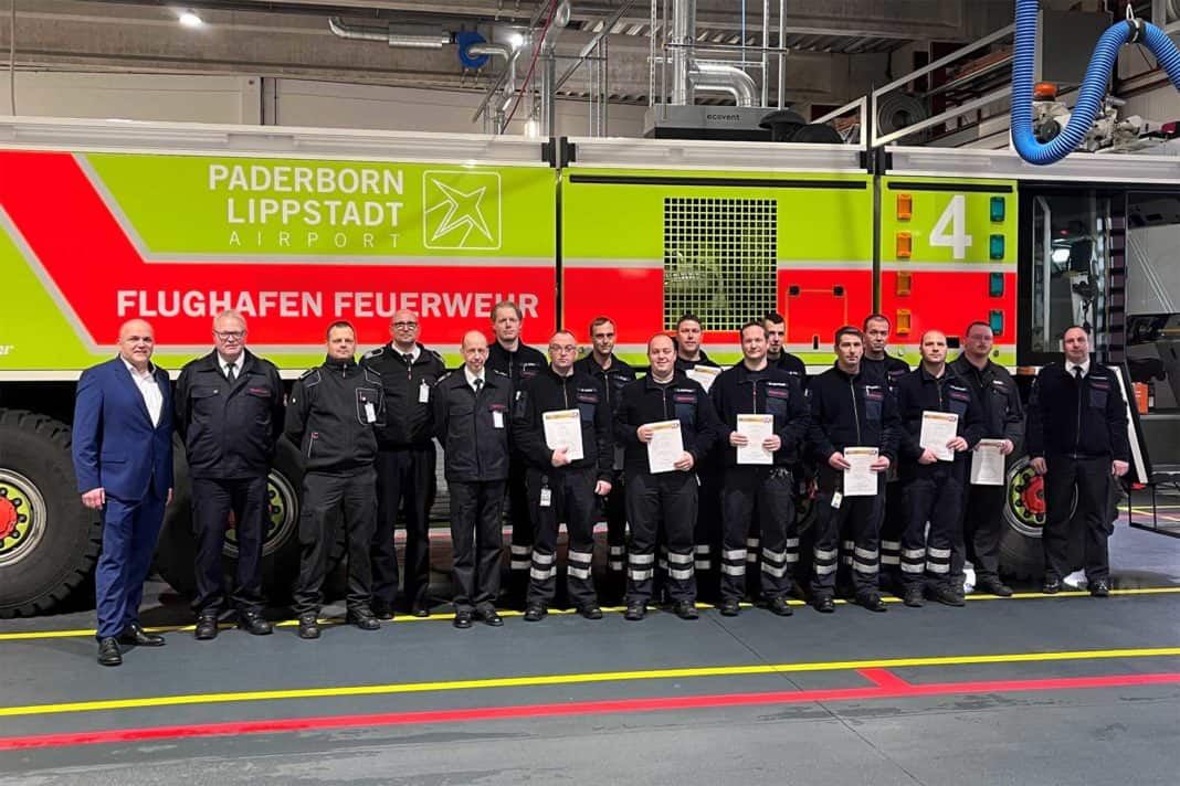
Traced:
<path fill-rule="evenodd" d="M 195 636 L 217 636 L 227 593 L 222 550 L 232 515 L 237 570 L 230 599 L 238 626 L 270 633 L 262 619 L 262 543 L 266 540 L 267 475 L 283 432 L 283 382 L 278 369 L 245 348 L 245 319 L 223 311 L 214 319 L 214 350 L 181 369 L 176 430 L 192 478 L 192 531 L 197 540 Z"/>

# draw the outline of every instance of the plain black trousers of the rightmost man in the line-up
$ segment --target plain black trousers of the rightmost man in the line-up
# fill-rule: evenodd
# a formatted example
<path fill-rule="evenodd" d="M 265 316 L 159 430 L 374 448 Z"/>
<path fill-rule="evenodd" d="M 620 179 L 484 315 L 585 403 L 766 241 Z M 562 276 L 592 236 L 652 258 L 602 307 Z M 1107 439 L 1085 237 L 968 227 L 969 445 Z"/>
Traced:
<path fill-rule="evenodd" d="M 1045 523 L 1041 534 L 1044 549 L 1044 575 L 1057 577 L 1071 573 L 1069 559 L 1069 503 L 1077 487 L 1076 519 L 1081 522 L 1086 577 L 1089 581 L 1108 579 L 1110 560 L 1107 539 L 1112 527 L 1107 515 L 1110 494 L 1110 458 L 1070 458 L 1045 456 L 1044 475 Z"/>

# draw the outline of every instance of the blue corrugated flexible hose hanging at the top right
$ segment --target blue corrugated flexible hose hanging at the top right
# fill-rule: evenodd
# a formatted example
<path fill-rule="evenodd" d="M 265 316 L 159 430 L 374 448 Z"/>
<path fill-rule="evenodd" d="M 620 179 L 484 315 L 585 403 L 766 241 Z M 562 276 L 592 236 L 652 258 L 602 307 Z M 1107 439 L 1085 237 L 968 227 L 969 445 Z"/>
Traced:
<path fill-rule="evenodd" d="M 1029 164 L 1055 164 L 1077 148 L 1094 126 L 1102 110 L 1107 82 L 1114 72 L 1119 48 L 1132 40 L 1135 27 L 1120 21 L 1099 39 L 1094 57 L 1086 70 L 1077 103 L 1064 130 L 1048 143 L 1040 143 L 1032 131 L 1032 59 L 1036 49 L 1037 0 L 1016 2 L 1016 47 L 1012 59 L 1012 144 Z M 1139 21 L 1142 42 L 1152 51 L 1160 66 L 1180 88 L 1180 49 L 1167 34 L 1150 22 Z"/>

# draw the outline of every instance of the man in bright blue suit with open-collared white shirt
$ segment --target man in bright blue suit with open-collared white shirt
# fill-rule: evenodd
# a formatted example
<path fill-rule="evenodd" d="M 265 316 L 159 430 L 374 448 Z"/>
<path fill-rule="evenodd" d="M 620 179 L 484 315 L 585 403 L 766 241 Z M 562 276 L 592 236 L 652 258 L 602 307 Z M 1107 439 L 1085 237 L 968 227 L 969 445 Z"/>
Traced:
<path fill-rule="evenodd" d="M 103 550 L 94 573 L 98 662 L 119 666 L 119 645 L 162 647 L 139 625 L 139 601 L 164 507 L 172 498 L 172 389 L 151 362 L 143 319 L 119 328 L 119 356 L 78 381 L 73 462 L 81 503 L 100 510 Z"/>

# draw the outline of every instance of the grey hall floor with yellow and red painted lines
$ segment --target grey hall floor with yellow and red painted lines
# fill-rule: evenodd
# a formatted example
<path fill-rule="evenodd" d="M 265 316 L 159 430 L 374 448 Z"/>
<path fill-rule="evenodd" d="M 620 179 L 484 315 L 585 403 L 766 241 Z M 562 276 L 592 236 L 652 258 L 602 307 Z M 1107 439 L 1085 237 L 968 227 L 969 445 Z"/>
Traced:
<path fill-rule="evenodd" d="M 1180 540 L 1120 524 L 1112 562 L 1108 600 L 438 614 L 316 642 L 197 642 L 155 587 L 168 646 L 118 669 L 92 612 L 0 623 L 0 785 L 1174 785 Z"/>

